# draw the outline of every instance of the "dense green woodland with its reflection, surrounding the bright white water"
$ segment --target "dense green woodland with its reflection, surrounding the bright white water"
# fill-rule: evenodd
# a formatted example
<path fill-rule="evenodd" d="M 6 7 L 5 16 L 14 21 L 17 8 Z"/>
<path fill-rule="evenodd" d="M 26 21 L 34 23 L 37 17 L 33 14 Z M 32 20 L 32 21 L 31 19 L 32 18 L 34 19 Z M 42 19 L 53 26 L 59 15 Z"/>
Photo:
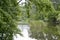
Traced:
<path fill-rule="evenodd" d="M 30 37 L 60 40 L 60 0 L 25 0 L 19 4 L 21 1 L 0 0 L 0 40 L 21 35 L 17 26 L 22 21 L 30 25 Z"/>

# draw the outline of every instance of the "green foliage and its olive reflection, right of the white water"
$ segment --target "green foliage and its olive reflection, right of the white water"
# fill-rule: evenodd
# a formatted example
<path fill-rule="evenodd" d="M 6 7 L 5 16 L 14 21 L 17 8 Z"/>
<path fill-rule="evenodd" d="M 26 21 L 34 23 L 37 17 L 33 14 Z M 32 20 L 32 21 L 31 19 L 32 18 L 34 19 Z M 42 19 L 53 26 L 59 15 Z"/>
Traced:
<path fill-rule="evenodd" d="M 26 0 L 21 19 L 28 21 L 31 37 L 38 40 L 60 40 L 60 4 L 55 8 L 51 0 Z M 46 34 L 46 36 L 44 36 Z M 52 38 L 57 37 L 57 39 Z"/>

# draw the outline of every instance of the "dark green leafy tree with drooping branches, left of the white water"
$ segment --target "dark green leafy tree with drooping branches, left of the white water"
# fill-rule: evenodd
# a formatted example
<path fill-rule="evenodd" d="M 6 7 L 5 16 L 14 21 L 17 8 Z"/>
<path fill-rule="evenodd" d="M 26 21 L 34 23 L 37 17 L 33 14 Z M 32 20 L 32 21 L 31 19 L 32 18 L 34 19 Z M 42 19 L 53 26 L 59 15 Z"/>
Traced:
<path fill-rule="evenodd" d="M 17 0 L 0 0 L 0 40 L 13 40 L 20 15 Z"/>

